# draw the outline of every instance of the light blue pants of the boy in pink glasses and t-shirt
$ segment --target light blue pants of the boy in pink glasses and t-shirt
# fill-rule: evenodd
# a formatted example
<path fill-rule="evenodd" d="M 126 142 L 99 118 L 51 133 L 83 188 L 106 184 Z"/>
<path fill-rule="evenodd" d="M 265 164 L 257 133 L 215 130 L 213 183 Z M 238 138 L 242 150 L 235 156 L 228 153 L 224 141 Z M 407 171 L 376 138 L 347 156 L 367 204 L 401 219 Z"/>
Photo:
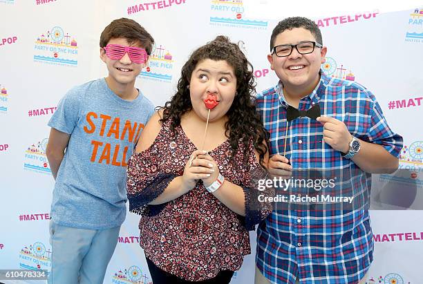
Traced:
<path fill-rule="evenodd" d="M 118 243 L 119 227 L 102 230 L 64 227 L 50 221 L 52 246 L 48 284 L 102 284 Z"/>

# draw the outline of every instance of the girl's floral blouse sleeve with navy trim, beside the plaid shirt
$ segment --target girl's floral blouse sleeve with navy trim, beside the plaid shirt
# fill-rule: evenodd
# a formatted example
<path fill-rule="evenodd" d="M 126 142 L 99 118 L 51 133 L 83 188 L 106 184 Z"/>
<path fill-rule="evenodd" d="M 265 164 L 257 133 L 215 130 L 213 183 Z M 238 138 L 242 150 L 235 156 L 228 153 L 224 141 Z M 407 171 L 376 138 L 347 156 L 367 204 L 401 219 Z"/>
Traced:
<path fill-rule="evenodd" d="M 260 186 L 260 180 L 267 178 L 267 171 L 263 169 L 254 155 L 250 155 L 247 174 L 247 186 L 243 187 L 245 195 L 245 227 L 254 231 L 255 225 L 264 220 L 272 212 L 272 203 L 266 196 L 274 196 L 273 187 Z"/>

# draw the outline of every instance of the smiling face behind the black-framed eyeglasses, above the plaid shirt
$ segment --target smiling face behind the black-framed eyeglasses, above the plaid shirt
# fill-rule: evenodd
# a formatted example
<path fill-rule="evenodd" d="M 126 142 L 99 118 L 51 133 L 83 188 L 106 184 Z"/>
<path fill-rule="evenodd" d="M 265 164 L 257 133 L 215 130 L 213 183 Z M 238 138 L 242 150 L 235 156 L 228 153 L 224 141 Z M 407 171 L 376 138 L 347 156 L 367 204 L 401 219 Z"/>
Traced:
<path fill-rule="evenodd" d="M 292 28 L 276 36 L 274 46 L 281 44 L 299 44 L 301 41 L 316 41 L 310 30 Z M 309 54 L 301 55 L 296 48 L 286 57 L 267 55 L 270 67 L 281 79 L 285 89 L 291 93 L 309 95 L 319 83 L 319 70 L 325 62 L 327 48 L 315 47 Z"/>

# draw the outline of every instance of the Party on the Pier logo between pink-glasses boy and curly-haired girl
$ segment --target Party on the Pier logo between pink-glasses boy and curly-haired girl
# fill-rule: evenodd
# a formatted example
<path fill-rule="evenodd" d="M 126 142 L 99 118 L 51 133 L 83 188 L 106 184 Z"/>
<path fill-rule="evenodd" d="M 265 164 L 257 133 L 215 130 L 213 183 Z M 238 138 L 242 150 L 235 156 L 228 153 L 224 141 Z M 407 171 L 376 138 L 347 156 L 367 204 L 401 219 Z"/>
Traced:
<path fill-rule="evenodd" d="M 140 77 L 170 83 L 172 79 L 173 55 L 164 46 L 153 46 L 149 65 L 141 71 Z"/>

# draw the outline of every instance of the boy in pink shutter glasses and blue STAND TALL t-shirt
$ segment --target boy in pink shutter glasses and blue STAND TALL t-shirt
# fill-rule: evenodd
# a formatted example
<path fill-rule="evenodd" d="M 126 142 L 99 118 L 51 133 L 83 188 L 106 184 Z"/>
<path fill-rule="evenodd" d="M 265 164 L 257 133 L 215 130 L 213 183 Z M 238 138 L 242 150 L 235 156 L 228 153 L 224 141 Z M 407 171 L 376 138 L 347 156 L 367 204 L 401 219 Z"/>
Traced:
<path fill-rule="evenodd" d="M 100 37 L 109 75 L 68 91 L 48 122 L 55 178 L 48 283 L 103 283 L 126 216 L 126 162 L 154 111 L 134 87 L 153 42 L 137 22 L 112 21 Z"/>

